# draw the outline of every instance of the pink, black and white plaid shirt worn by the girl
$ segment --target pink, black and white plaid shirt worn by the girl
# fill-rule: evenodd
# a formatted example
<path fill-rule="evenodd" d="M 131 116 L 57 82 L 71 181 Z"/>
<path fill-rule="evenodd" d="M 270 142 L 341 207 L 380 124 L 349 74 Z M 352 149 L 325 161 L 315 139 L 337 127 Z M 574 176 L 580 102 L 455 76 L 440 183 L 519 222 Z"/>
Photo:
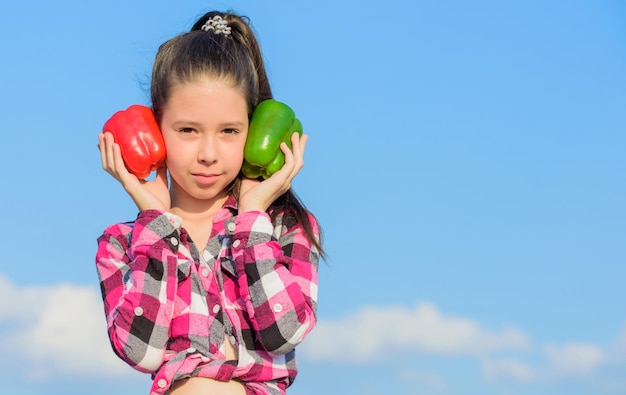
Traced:
<path fill-rule="evenodd" d="M 198 251 L 174 214 L 146 210 L 98 238 L 96 266 L 115 353 L 152 374 L 151 395 L 187 377 L 284 394 L 295 346 L 313 329 L 318 252 L 279 216 L 237 215 L 230 197 Z M 315 234 L 317 223 L 311 216 Z M 238 360 L 225 360 L 225 336 Z"/>

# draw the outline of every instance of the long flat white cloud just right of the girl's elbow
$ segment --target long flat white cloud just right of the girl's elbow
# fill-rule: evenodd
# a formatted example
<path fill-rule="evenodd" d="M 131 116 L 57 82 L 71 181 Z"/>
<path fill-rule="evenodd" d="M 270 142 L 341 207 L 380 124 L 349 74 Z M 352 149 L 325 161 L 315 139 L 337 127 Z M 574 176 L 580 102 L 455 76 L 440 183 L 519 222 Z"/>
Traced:
<path fill-rule="evenodd" d="M 413 309 L 367 307 L 339 320 L 320 320 L 301 350 L 312 359 L 367 362 L 393 351 L 480 355 L 528 346 L 518 329 L 487 330 L 467 318 L 444 316 L 424 302 Z"/>

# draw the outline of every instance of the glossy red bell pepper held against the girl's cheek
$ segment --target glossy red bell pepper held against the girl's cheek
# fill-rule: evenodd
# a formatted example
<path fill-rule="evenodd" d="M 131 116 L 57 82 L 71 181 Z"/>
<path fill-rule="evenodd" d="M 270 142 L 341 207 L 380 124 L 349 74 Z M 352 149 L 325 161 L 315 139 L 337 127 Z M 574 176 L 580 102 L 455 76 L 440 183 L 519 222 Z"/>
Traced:
<path fill-rule="evenodd" d="M 129 172 L 144 179 L 165 161 L 165 142 L 152 110 L 139 104 L 118 111 L 104 124 L 119 144 Z"/>

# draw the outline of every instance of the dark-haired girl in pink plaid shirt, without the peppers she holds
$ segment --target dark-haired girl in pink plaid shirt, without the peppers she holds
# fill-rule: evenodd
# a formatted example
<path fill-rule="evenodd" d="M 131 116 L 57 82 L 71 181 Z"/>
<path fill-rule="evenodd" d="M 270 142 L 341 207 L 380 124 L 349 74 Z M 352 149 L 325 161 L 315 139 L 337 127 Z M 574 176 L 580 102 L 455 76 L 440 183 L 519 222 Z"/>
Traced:
<path fill-rule="evenodd" d="M 151 395 L 284 394 L 315 325 L 322 254 L 290 189 L 307 136 L 281 145 L 285 164 L 267 180 L 241 175 L 251 113 L 272 94 L 247 19 L 230 13 L 159 48 L 151 96 L 167 150 L 153 181 L 99 136 L 102 167 L 139 209 L 98 239 L 112 347 L 152 374 Z"/>

